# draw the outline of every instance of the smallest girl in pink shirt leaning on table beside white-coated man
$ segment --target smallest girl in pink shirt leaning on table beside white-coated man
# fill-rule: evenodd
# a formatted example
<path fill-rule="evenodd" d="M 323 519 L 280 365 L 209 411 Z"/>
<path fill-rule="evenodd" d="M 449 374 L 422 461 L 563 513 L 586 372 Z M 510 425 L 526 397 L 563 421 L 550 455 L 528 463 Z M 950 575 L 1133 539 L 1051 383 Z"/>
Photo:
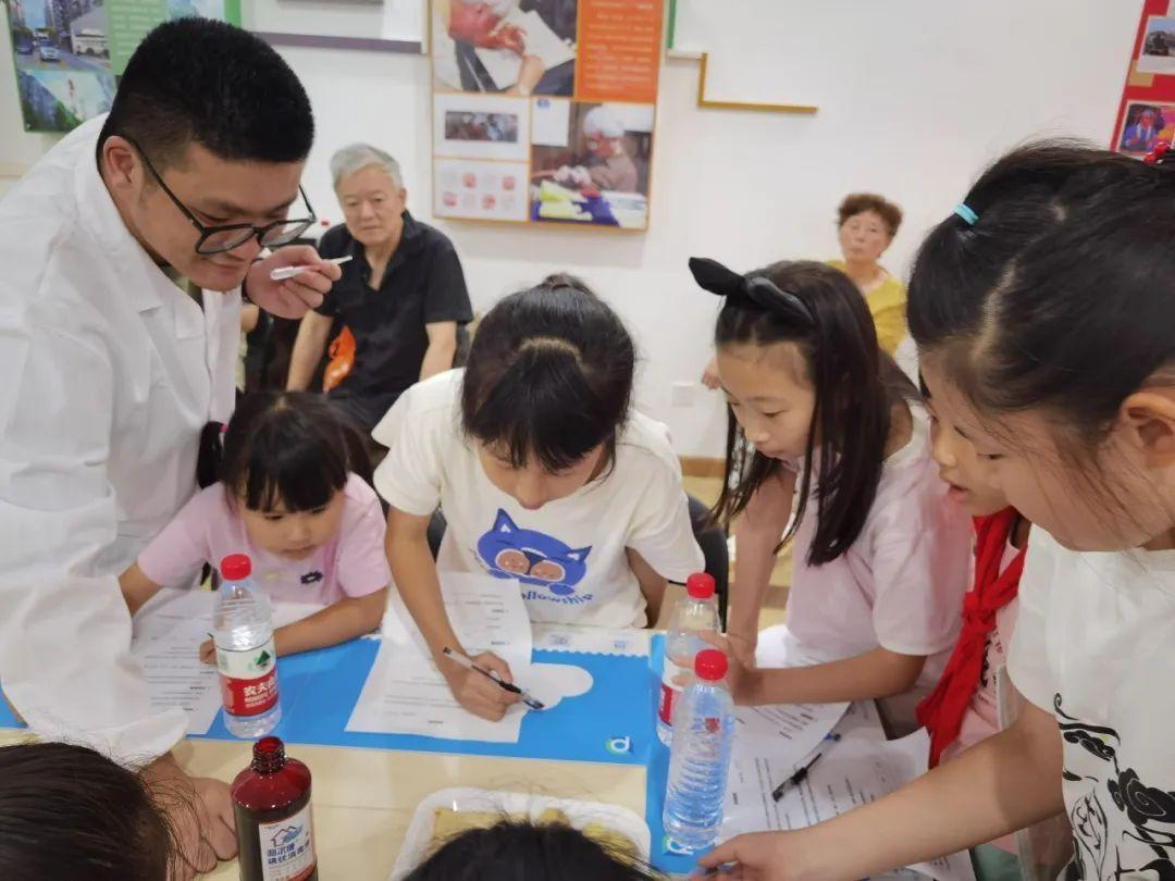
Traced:
<path fill-rule="evenodd" d="M 271 600 L 321 611 L 278 627 L 278 654 L 380 626 L 391 574 L 363 439 L 321 395 L 247 396 L 223 432 L 219 480 L 197 492 L 119 583 L 132 614 L 161 586 L 190 586 L 206 563 L 247 553 Z M 201 646 L 212 659 L 212 643 Z"/>

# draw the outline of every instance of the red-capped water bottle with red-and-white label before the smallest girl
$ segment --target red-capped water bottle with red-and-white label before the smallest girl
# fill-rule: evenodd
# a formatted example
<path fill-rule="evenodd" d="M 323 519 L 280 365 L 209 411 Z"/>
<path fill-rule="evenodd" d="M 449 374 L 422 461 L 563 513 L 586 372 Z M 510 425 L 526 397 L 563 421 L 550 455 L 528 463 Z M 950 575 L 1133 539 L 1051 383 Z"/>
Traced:
<path fill-rule="evenodd" d="M 269 603 L 254 589 L 251 574 L 243 553 L 221 560 L 223 584 L 213 613 L 224 727 L 250 740 L 271 732 L 282 718 Z"/>

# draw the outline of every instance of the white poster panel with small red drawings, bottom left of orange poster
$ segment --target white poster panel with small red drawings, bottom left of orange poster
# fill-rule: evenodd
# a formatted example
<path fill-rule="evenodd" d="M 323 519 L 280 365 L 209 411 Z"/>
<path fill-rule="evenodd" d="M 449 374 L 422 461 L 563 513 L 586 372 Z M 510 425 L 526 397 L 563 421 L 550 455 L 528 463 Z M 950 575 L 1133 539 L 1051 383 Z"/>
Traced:
<path fill-rule="evenodd" d="M 434 213 L 463 220 L 526 220 L 526 163 L 438 159 Z"/>

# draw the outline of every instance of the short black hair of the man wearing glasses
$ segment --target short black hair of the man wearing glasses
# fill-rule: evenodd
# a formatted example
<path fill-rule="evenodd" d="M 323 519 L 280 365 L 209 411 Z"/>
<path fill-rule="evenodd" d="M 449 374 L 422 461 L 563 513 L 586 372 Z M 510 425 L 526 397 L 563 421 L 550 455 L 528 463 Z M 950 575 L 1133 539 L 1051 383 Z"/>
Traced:
<path fill-rule="evenodd" d="M 143 38 L 119 80 L 99 149 L 132 139 L 163 172 L 190 144 L 219 159 L 296 162 L 310 153 L 306 89 L 269 43 L 222 21 L 183 18 Z"/>

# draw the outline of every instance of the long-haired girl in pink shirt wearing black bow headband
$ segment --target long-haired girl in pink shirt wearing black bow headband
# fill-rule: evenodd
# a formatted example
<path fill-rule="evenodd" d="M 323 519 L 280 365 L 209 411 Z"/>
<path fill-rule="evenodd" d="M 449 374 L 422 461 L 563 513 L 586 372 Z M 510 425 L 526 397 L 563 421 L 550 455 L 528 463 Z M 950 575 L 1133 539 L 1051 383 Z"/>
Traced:
<path fill-rule="evenodd" d="M 913 729 L 954 645 L 971 558 L 967 516 L 946 499 L 916 390 L 878 349 L 842 273 L 690 265 L 724 297 L 718 375 L 737 423 L 718 513 L 734 520 L 738 551 L 728 644 L 719 641 L 737 661 L 736 701 L 885 698 L 894 727 Z M 733 455 L 744 439 L 745 462 Z M 805 666 L 756 670 L 759 608 L 788 542 L 786 640 Z"/>

